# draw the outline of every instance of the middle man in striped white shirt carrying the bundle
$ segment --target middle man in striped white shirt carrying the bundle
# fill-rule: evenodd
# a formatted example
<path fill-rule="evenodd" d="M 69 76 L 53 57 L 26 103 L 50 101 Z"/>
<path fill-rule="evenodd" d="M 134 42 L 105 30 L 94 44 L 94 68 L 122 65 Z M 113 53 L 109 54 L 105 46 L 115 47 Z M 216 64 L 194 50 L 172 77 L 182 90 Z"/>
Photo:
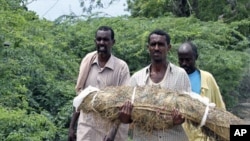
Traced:
<path fill-rule="evenodd" d="M 188 76 L 184 69 L 167 60 L 171 49 L 170 36 L 163 30 L 154 30 L 148 36 L 147 49 L 151 64 L 136 72 L 130 79 L 131 86 L 156 86 L 176 91 L 191 92 Z M 153 96 L 153 95 L 152 95 Z M 169 107 L 166 107 L 169 108 Z M 133 129 L 133 141 L 188 141 L 181 124 L 184 118 L 173 110 L 173 127 L 146 134 L 142 129 Z"/>

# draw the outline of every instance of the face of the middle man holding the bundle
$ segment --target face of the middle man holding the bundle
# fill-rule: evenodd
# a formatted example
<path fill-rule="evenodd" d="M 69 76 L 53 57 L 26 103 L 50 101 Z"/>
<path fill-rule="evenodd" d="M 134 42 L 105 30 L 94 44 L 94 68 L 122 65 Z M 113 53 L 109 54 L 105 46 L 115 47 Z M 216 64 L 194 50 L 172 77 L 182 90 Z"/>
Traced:
<path fill-rule="evenodd" d="M 162 35 L 152 34 L 148 43 L 148 50 L 151 59 L 154 62 L 165 61 L 167 52 L 170 49 L 170 45 L 167 44 L 166 37 Z"/>

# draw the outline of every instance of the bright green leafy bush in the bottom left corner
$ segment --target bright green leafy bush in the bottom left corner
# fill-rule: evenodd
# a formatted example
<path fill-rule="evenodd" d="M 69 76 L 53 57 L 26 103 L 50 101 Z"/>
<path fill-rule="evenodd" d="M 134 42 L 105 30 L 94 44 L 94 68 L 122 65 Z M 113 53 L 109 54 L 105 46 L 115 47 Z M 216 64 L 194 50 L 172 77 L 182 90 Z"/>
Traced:
<path fill-rule="evenodd" d="M 56 127 L 41 114 L 0 106 L 0 139 L 5 141 L 54 140 Z"/>

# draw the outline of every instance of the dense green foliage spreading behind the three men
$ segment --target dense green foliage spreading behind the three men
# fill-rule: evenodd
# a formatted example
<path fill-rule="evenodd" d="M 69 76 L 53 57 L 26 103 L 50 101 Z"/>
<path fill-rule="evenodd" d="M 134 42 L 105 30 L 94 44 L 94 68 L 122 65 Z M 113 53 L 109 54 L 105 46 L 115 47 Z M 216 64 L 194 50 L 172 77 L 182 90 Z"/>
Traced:
<path fill-rule="evenodd" d="M 0 140 L 66 140 L 79 63 L 95 50 L 94 33 L 100 25 L 114 28 L 113 53 L 128 63 L 131 74 L 150 62 L 146 39 L 161 28 L 171 35 L 168 59 L 175 64 L 183 41 L 198 45 L 199 67 L 215 76 L 228 110 L 250 96 L 248 19 L 230 24 L 193 16 L 51 22 L 15 0 L 0 4 Z"/>

